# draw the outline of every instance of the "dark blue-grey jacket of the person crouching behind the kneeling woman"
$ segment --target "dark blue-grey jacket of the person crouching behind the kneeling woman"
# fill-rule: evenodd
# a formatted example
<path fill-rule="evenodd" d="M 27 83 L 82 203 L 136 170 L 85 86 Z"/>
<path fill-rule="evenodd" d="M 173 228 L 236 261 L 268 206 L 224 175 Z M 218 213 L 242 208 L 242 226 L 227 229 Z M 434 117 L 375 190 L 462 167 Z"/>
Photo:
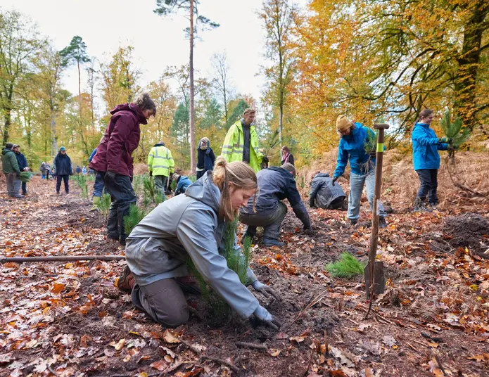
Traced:
<path fill-rule="evenodd" d="M 256 198 L 256 211 L 268 214 L 277 210 L 279 200 L 287 199 L 291 204 L 293 212 L 303 222 L 305 228 L 310 228 L 311 220 L 305 209 L 303 200 L 297 190 L 296 181 L 291 173 L 281 167 L 272 166 L 256 173 L 258 179 L 258 198 Z M 253 198 L 248 205 L 241 208 L 241 212 L 248 215 L 253 214 Z"/>

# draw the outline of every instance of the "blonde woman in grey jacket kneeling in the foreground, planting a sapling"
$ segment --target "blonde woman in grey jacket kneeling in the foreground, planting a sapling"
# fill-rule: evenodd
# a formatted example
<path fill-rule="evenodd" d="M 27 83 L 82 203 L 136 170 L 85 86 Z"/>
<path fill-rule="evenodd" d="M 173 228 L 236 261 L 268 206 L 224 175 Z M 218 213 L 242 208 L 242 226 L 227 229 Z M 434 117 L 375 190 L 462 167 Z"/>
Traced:
<path fill-rule="evenodd" d="M 188 275 L 185 261 L 191 257 L 203 279 L 236 313 L 241 317 L 254 314 L 278 328 L 279 321 L 260 306 L 218 251 L 224 222 L 234 219 L 256 188 L 255 172 L 246 163 L 217 158 L 213 172 L 206 172 L 187 188 L 185 195 L 158 205 L 134 227 L 126 245 L 129 268 L 122 272 L 118 287 L 132 289 L 134 305 L 160 324 L 184 324 L 189 319 L 189 309 L 175 279 Z M 241 253 L 236 244 L 234 250 Z M 278 298 L 249 267 L 247 278 L 255 290 Z"/>

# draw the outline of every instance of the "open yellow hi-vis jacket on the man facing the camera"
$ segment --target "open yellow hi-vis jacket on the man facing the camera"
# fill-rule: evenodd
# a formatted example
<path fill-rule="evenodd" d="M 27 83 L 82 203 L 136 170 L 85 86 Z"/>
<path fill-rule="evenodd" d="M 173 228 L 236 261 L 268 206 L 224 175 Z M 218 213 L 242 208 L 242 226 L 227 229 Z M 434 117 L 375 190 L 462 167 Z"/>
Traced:
<path fill-rule="evenodd" d="M 243 161 L 244 136 L 241 120 L 236 121 L 226 134 L 222 144 L 221 155 L 227 162 Z M 258 134 L 255 126 L 250 126 L 250 167 L 260 171 L 263 155 L 258 151 Z"/>

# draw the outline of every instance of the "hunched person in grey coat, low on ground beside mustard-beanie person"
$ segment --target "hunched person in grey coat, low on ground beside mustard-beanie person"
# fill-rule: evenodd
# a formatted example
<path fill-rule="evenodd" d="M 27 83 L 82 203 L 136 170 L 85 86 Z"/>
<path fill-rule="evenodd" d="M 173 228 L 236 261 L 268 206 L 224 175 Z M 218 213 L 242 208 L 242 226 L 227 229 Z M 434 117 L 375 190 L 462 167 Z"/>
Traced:
<path fill-rule="evenodd" d="M 346 210 L 345 191 L 339 184 L 333 184 L 328 173 L 317 172 L 311 181 L 309 206 L 323 210 Z"/>

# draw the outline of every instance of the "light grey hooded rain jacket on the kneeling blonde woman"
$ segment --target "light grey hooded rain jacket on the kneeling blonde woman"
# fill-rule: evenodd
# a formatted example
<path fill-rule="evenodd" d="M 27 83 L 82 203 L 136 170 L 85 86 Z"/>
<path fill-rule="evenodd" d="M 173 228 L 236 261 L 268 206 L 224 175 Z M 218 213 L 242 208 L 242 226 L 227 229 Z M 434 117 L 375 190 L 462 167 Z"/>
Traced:
<path fill-rule="evenodd" d="M 185 195 L 166 200 L 141 220 L 127 237 L 126 260 L 136 283 L 186 276 L 191 257 L 203 279 L 242 317 L 250 317 L 258 300 L 227 267 L 220 254 L 224 222 L 217 219 L 221 193 L 212 172 L 186 189 Z M 234 250 L 241 248 L 234 242 Z M 249 283 L 258 280 L 248 267 Z"/>

